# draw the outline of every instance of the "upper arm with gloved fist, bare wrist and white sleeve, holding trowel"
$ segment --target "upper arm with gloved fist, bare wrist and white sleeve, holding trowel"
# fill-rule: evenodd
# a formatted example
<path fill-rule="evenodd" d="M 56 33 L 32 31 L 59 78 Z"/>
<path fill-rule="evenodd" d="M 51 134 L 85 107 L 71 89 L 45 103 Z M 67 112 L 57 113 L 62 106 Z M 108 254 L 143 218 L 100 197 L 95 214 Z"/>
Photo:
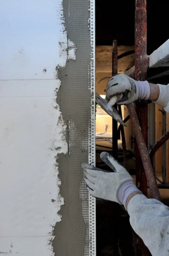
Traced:
<path fill-rule="evenodd" d="M 138 99 L 149 99 L 169 113 L 169 84 L 135 81 L 125 74 L 117 74 L 109 79 L 106 89 L 107 100 L 110 101 L 115 96 L 118 96 L 118 105 L 127 105 Z"/>

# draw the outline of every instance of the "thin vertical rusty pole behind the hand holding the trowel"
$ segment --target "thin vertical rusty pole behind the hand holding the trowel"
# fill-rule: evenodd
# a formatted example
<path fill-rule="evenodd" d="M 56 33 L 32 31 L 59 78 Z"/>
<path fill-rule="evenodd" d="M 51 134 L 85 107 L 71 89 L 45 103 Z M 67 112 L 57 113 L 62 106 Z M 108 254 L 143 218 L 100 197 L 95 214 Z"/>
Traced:
<path fill-rule="evenodd" d="M 118 52 L 117 52 L 117 40 L 113 40 L 113 50 L 112 50 L 112 76 L 117 74 L 118 67 Z M 117 105 L 113 106 L 117 109 Z M 112 119 L 112 155 L 118 160 L 118 137 L 117 137 L 117 122 Z"/>

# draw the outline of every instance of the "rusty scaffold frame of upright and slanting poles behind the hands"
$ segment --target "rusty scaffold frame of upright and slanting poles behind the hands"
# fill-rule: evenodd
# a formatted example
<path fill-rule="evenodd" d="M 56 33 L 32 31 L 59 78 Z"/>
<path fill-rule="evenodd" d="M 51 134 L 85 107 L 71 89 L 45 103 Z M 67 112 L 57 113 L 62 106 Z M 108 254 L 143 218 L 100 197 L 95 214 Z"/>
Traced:
<path fill-rule="evenodd" d="M 167 67 L 169 66 L 169 40 L 161 47 L 155 50 L 151 55 L 146 53 L 146 0 L 135 0 L 135 66 L 128 70 L 125 74 L 134 77 L 135 80 L 146 80 L 147 68 Z M 113 41 L 112 52 L 112 74 L 117 73 L 117 41 Z M 116 106 L 117 108 L 117 106 Z M 161 201 L 158 184 L 153 168 L 153 158 L 155 152 L 169 139 L 169 131 L 166 132 L 151 148 L 147 150 L 147 102 L 144 100 L 127 105 L 132 127 L 135 132 L 135 155 L 136 155 L 136 185 L 147 195 L 147 186 L 150 190 L 151 198 Z M 121 114 L 121 106 L 118 106 Z M 128 120 L 128 118 L 127 118 Z M 124 120 L 124 122 L 127 122 Z M 121 131 L 124 166 L 128 170 L 126 143 L 124 137 L 124 127 L 120 125 Z M 117 123 L 113 120 L 113 156 L 117 159 Z M 135 248 L 135 256 L 148 256 L 148 249 L 143 241 L 133 233 L 133 244 Z"/>

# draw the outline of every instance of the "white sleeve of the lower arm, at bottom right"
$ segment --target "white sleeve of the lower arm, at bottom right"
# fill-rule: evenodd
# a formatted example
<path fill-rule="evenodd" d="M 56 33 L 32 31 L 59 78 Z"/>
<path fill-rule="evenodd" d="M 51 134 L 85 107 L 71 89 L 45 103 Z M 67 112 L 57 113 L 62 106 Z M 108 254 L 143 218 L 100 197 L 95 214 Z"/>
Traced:
<path fill-rule="evenodd" d="M 169 256 L 169 207 L 139 194 L 130 199 L 127 211 L 133 230 L 152 256 Z"/>

